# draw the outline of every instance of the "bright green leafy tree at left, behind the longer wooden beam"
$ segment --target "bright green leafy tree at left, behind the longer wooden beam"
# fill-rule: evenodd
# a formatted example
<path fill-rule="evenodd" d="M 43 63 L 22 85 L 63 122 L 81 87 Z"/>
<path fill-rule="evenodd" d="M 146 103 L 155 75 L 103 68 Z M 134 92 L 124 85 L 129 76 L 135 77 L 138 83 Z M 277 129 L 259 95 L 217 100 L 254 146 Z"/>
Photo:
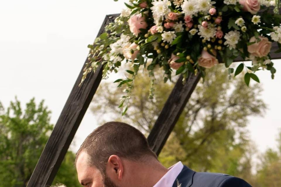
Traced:
<path fill-rule="evenodd" d="M 26 186 L 53 129 L 50 111 L 34 98 L 23 110 L 20 101 L 5 110 L 0 103 L 0 186 Z M 74 154 L 68 152 L 55 181 L 78 186 Z M 66 176 L 68 175 L 68 178 Z M 70 177 L 69 177 L 70 176 Z"/>

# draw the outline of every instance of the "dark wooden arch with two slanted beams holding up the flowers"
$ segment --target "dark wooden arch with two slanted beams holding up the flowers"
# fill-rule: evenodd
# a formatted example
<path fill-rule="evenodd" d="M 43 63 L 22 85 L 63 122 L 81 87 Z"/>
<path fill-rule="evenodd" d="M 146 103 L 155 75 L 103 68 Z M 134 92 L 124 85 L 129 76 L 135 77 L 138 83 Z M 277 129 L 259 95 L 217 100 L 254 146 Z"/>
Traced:
<path fill-rule="evenodd" d="M 102 34 L 104 32 L 104 27 L 110 22 L 114 22 L 117 16 L 119 16 L 119 14 L 107 15 L 97 36 Z M 274 53 L 277 49 L 279 48 L 275 42 L 271 49 L 272 59 L 281 58 L 281 53 Z M 236 62 L 241 60 L 242 58 L 235 59 Z M 88 58 L 85 63 L 87 62 Z M 83 85 L 79 87 L 78 85 L 80 84 L 84 67 L 85 64 L 83 64 L 52 134 L 37 162 L 28 182 L 28 187 L 44 187 L 52 184 L 80 122 L 95 95 L 102 79 L 102 66 L 100 65 L 95 73 L 90 73 L 83 82 Z M 157 155 L 159 155 L 165 145 L 167 138 L 172 132 L 191 93 L 199 82 L 200 77 L 200 73 L 197 75 L 190 74 L 186 80 L 186 84 L 182 84 L 182 76 L 180 76 L 174 89 L 170 93 L 169 98 L 148 136 L 149 145 Z"/>

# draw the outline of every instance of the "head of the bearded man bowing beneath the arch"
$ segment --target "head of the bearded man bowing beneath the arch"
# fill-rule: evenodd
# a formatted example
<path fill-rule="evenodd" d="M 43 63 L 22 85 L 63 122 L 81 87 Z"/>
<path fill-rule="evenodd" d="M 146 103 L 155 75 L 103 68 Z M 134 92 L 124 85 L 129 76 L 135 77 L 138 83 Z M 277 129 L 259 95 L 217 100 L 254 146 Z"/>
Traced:
<path fill-rule="evenodd" d="M 108 122 L 95 129 L 76 153 L 78 179 L 84 186 L 122 187 L 130 183 L 136 165 L 157 157 L 136 128 Z M 134 166 L 134 167 L 133 167 Z"/>

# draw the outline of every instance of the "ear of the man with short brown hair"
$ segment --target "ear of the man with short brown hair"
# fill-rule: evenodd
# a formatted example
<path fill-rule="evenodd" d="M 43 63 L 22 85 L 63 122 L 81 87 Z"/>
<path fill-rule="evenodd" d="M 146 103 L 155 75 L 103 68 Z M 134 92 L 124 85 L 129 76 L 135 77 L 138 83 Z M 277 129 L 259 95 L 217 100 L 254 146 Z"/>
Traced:
<path fill-rule="evenodd" d="M 117 155 L 111 155 L 107 164 L 109 169 L 108 172 L 110 172 L 112 176 L 115 175 L 119 180 L 121 180 L 123 177 L 124 167 L 120 157 Z"/>

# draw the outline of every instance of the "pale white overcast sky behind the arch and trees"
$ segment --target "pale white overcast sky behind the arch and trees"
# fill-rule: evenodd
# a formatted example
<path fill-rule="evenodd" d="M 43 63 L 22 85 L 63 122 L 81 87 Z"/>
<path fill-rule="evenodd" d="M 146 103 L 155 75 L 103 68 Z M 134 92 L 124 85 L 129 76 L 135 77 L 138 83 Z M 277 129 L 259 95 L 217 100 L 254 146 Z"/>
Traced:
<path fill-rule="evenodd" d="M 45 100 L 56 123 L 105 15 L 119 13 L 122 0 L 13 0 L 0 2 L 0 101 L 4 106 L 15 96 L 22 103 L 35 97 Z M 257 75 L 263 84 L 263 100 L 268 104 L 264 117 L 251 117 L 248 129 L 260 151 L 276 148 L 281 128 L 281 61 L 277 73 Z M 76 151 L 97 127 L 87 111 L 75 136 Z"/>

